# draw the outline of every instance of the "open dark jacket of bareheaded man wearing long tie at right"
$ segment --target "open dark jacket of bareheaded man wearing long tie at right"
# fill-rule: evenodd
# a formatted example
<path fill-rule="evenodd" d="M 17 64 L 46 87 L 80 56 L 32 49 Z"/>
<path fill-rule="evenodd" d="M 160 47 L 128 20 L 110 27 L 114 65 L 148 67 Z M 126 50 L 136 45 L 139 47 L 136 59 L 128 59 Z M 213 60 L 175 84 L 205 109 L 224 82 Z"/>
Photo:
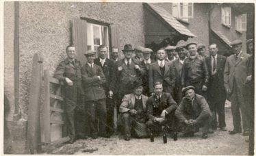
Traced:
<path fill-rule="evenodd" d="M 214 92 L 221 92 L 225 96 L 225 87 L 224 87 L 224 68 L 226 64 L 227 58 L 222 55 L 217 55 L 217 66 L 216 66 L 216 77 L 218 79 L 218 83 L 214 83 L 212 79 L 212 56 L 205 57 L 205 62 L 207 64 L 207 69 L 209 73 L 209 83 L 207 91 L 211 94 Z"/>

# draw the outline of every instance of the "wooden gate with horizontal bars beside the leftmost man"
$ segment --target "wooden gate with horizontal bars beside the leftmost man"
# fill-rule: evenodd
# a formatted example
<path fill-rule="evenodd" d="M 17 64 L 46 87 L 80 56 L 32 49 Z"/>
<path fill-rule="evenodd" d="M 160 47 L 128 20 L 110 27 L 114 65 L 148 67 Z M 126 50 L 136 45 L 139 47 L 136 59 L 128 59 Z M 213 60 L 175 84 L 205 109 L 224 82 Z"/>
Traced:
<path fill-rule="evenodd" d="M 49 76 L 49 70 L 44 70 L 44 108 L 42 143 L 49 148 L 69 140 L 66 132 L 64 99 L 61 94 L 63 83 Z"/>

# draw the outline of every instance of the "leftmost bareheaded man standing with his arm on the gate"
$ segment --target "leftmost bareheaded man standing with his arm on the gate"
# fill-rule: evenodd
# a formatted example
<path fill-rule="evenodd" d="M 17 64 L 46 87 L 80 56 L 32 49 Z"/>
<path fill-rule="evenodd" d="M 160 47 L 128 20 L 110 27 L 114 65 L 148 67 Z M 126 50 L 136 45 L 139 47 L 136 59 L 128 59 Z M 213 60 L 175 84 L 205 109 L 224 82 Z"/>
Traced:
<path fill-rule="evenodd" d="M 66 125 L 68 127 L 68 143 L 75 142 L 75 138 L 86 139 L 84 133 L 84 120 L 80 120 L 78 115 L 83 116 L 84 103 L 82 101 L 84 90 L 81 88 L 81 63 L 75 59 L 76 51 L 74 45 L 66 47 L 66 60 L 57 66 L 54 77 L 64 82 L 62 92 L 65 97 L 64 110 L 66 112 Z M 77 110 L 79 114 L 77 114 Z M 83 118 L 83 117 L 82 117 Z M 77 131 L 77 133 L 76 133 Z"/>

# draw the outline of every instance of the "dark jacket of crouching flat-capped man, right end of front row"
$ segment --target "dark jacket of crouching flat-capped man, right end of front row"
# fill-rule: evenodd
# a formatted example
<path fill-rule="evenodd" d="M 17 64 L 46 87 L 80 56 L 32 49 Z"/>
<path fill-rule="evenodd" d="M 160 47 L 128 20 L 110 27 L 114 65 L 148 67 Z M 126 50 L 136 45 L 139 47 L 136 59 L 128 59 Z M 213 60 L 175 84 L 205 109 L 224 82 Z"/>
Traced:
<path fill-rule="evenodd" d="M 177 116 L 180 122 L 190 119 L 203 122 L 205 118 L 211 116 L 211 111 L 205 98 L 199 94 L 195 94 L 193 106 L 189 103 L 188 99 L 183 97 L 179 107 L 176 109 L 175 116 Z"/>

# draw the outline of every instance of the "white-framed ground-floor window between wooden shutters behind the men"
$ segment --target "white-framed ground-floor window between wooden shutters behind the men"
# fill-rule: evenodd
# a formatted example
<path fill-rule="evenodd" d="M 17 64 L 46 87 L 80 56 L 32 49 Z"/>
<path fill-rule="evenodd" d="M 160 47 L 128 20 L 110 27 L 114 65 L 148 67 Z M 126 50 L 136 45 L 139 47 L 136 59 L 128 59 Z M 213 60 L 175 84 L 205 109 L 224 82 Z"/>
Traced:
<path fill-rule="evenodd" d="M 87 23 L 87 46 L 88 50 L 98 51 L 99 46 L 105 44 L 107 46 L 107 55 L 110 57 L 108 27 Z"/>

